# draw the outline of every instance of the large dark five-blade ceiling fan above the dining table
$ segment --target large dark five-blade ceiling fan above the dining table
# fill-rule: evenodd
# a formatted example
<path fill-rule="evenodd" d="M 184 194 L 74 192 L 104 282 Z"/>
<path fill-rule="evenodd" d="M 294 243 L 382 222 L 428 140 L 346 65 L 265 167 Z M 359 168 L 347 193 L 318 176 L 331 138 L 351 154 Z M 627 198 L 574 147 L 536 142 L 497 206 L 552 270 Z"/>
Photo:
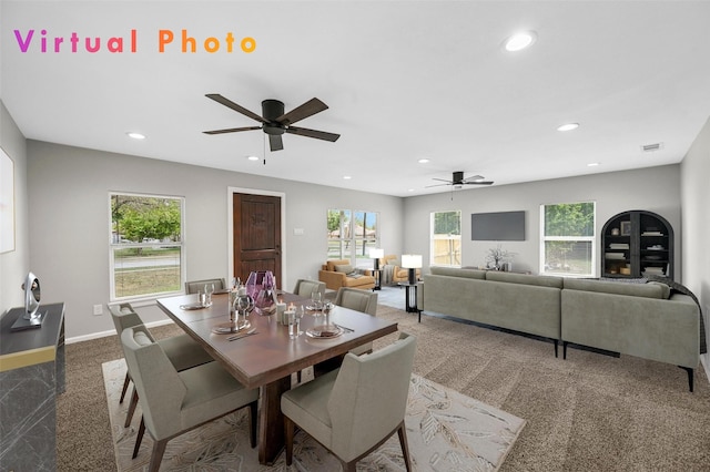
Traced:
<path fill-rule="evenodd" d="M 235 112 L 242 113 L 244 116 L 248 116 L 252 120 L 256 120 L 261 123 L 261 126 L 245 126 L 245 127 L 230 127 L 226 130 L 213 130 L 205 131 L 205 134 L 224 134 L 235 133 L 239 131 L 252 131 L 263 130 L 268 135 L 268 144 L 272 151 L 281 151 L 284 148 L 284 143 L 281 137 L 284 133 L 297 134 L 300 136 L 315 137 L 316 140 L 325 140 L 329 142 L 337 141 L 341 137 L 339 134 L 327 133 L 325 131 L 308 130 L 307 127 L 292 126 L 301 120 L 307 119 L 316 113 L 320 113 L 328 109 L 328 105 L 320 101 L 318 99 L 311 99 L 304 104 L 296 106 L 288 113 L 284 113 L 284 104 L 278 100 L 264 100 L 262 102 L 262 116 L 254 112 L 246 110 L 245 107 L 237 105 L 229 99 L 220 95 L 219 93 L 209 93 L 205 95 L 207 99 L 212 99 L 217 103 L 227 106 Z"/>

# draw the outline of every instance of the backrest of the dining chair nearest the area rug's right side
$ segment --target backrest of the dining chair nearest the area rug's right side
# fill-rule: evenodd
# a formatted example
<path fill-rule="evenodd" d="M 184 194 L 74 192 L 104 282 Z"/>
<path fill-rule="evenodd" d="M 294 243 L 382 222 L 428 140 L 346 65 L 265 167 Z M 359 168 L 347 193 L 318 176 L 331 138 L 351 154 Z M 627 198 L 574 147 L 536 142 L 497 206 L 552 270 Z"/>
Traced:
<path fill-rule="evenodd" d="M 371 355 L 345 356 L 327 401 L 338 458 L 359 456 L 404 421 L 415 351 L 416 338 L 400 332 Z"/>

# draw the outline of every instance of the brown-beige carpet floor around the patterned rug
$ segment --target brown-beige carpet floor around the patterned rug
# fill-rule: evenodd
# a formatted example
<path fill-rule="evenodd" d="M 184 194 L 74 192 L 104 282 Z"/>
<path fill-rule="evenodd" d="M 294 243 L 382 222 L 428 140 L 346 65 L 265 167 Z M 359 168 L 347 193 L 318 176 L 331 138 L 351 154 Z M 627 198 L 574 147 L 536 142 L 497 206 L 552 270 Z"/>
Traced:
<path fill-rule="evenodd" d="M 520 336 L 426 315 L 417 324 L 383 305 L 377 316 L 417 336 L 415 373 L 525 418 L 500 472 L 710 471 L 702 367 L 690 393 L 676 366 L 577 349 L 562 360 L 551 343 Z M 175 325 L 151 331 L 183 332 Z M 122 356 L 115 336 L 67 345 L 67 392 L 57 400 L 60 472 L 116 470 L 101 365 Z"/>

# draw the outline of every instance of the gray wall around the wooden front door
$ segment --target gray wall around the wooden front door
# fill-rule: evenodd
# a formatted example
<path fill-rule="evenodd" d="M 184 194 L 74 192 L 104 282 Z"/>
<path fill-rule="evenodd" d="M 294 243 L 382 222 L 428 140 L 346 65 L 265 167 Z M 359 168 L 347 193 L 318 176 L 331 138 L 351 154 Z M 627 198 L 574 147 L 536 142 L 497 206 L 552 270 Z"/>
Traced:
<path fill-rule="evenodd" d="M 382 246 L 402 250 L 402 198 L 28 141 L 30 261 L 42 299 L 63 300 L 67 337 L 113 329 L 109 301 L 110 191 L 185 197 L 187 279 L 227 277 L 227 187 L 285 194 L 286 280 L 317 278 L 326 258 L 327 208 L 379 212 Z M 304 228 L 295 236 L 294 228 Z M 104 305 L 103 316 L 93 306 Z M 141 306 L 145 322 L 164 319 Z"/>

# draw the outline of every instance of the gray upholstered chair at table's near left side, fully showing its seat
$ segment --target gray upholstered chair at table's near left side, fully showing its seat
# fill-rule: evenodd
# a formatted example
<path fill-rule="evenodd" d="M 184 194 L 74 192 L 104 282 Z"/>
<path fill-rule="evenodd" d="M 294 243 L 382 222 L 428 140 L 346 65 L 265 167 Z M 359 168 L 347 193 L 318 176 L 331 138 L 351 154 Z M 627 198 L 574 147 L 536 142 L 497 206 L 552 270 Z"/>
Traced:
<path fill-rule="evenodd" d="M 250 407 L 250 439 L 256 445 L 258 389 L 244 388 L 219 362 L 178 372 L 144 326 L 124 329 L 121 342 L 143 410 L 133 458 L 148 430 L 153 438 L 149 471 L 160 469 L 168 441 L 244 407 Z"/>

